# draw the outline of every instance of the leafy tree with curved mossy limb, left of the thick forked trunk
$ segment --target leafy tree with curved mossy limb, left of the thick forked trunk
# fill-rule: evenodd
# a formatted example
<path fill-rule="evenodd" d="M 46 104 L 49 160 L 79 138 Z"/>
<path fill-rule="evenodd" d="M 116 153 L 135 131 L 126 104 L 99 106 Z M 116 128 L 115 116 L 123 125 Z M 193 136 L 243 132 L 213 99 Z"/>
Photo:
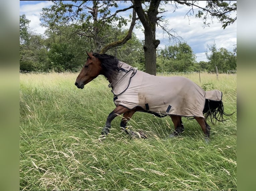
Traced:
<path fill-rule="evenodd" d="M 111 14 L 111 9 L 118 8 L 117 1 L 53 1 L 54 5 L 50 8 L 43 8 L 41 20 L 45 26 L 58 30 L 60 26 L 69 26 L 70 22 L 76 23 L 73 33 L 85 36 L 93 40 L 93 52 L 105 53 L 109 49 L 121 46 L 131 39 L 132 30 L 136 21 L 136 12 L 133 11 L 132 22 L 127 35 L 116 42 L 111 42 L 103 48 L 101 42 L 108 36 L 103 36 L 102 32 L 113 22 L 118 22 L 118 26 L 127 25 L 126 19 L 117 16 L 119 12 L 132 9 L 133 5 L 118 9 Z M 92 3 L 92 4 L 91 4 Z M 85 12 L 88 10 L 88 13 Z"/>

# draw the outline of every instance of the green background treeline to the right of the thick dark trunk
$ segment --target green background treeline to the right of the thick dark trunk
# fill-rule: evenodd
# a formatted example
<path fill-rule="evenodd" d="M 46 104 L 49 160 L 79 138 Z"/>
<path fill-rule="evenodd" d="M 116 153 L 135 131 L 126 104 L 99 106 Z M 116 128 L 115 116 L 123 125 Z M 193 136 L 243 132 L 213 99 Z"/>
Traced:
<path fill-rule="evenodd" d="M 196 55 L 189 45 L 179 43 L 160 49 L 157 54 L 157 72 L 215 72 L 216 66 L 219 73 L 236 70 L 236 51 L 226 48 L 217 50 L 215 42 L 206 50 L 208 62 L 196 62 Z"/>

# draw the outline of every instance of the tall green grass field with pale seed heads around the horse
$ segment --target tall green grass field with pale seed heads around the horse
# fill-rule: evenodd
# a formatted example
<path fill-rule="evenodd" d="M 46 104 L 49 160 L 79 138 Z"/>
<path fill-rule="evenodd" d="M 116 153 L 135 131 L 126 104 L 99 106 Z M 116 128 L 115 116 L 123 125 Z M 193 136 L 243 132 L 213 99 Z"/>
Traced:
<path fill-rule="evenodd" d="M 210 144 L 196 120 L 183 118 L 182 136 L 167 139 L 170 117 L 142 112 L 128 125 L 148 139 L 127 137 L 118 116 L 99 141 L 113 94 L 102 76 L 78 89 L 77 75 L 20 74 L 20 190 L 236 190 L 236 113 L 209 123 Z M 186 77 L 222 91 L 225 111 L 236 111 L 236 75 Z"/>

